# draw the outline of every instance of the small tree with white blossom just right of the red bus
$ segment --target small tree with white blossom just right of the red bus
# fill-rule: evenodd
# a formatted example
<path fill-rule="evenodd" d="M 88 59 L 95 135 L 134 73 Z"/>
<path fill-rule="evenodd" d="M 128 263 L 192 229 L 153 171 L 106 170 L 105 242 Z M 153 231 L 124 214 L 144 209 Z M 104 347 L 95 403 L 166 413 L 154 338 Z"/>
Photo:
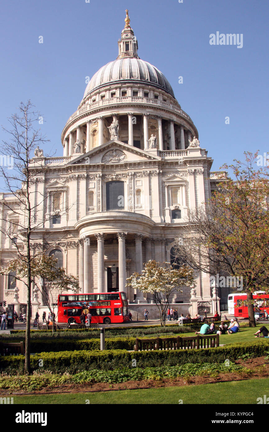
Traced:
<path fill-rule="evenodd" d="M 144 294 L 153 295 L 155 305 L 158 307 L 161 326 L 165 326 L 166 311 L 169 306 L 169 298 L 175 292 L 181 292 L 180 287 L 196 285 L 193 279 L 193 270 L 186 265 L 175 269 L 170 263 L 158 263 L 149 260 L 145 264 L 142 274 L 133 273 L 128 279 L 126 286 L 139 289 Z"/>

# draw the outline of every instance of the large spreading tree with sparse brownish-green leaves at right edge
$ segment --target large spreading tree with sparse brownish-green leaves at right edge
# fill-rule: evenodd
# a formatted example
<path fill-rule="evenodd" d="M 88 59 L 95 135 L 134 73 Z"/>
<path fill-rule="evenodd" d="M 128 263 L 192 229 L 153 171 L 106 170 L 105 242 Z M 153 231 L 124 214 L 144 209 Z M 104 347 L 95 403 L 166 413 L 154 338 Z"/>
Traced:
<path fill-rule="evenodd" d="M 190 212 L 175 253 L 193 269 L 243 278 L 249 324 L 256 327 L 253 292 L 269 290 L 269 170 L 257 168 L 258 152 L 244 154 L 244 163 L 222 167 L 235 181 L 228 178 L 208 203 Z"/>

